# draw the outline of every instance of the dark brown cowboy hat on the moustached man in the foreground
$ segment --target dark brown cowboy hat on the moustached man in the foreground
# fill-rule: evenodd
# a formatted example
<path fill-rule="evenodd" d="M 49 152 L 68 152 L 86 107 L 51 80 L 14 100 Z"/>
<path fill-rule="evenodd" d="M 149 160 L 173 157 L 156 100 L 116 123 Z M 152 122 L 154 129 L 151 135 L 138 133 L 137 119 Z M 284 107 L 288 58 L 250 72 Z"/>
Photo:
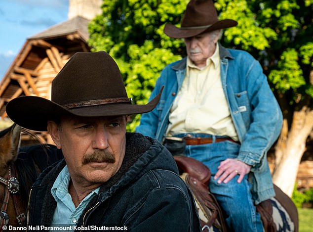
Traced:
<path fill-rule="evenodd" d="M 131 104 L 113 58 L 105 51 L 77 52 L 52 81 L 51 100 L 21 96 L 6 105 L 18 125 L 46 131 L 47 121 L 61 115 L 117 116 L 153 110 L 161 92 L 146 105 Z"/>

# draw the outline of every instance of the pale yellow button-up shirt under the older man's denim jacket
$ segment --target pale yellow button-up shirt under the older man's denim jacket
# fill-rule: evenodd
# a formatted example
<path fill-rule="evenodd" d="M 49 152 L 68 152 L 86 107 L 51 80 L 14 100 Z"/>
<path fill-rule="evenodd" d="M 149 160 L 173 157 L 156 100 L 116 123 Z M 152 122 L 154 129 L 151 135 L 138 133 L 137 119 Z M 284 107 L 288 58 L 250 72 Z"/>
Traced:
<path fill-rule="evenodd" d="M 219 46 L 198 68 L 187 58 L 186 77 L 170 110 L 166 136 L 205 133 L 238 140 L 221 81 Z"/>

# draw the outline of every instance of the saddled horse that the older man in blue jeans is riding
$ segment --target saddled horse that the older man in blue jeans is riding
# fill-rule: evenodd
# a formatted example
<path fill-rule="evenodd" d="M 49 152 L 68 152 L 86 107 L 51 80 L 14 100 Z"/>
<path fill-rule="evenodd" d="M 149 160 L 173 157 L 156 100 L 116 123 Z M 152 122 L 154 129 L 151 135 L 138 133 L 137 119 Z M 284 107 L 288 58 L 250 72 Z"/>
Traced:
<path fill-rule="evenodd" d="M 194 195 L 202 232 L 226 232 L 222 208 L 208 187 L 211 178 L 209 168 L 187 156 L 174 155 L 174 160 L 181 178 Z M 256 205 L 264 232 L 298 232 L 299 218 L 296 205 L 278 186 L 274 185 L 274 190 L 275 197 Z"/>

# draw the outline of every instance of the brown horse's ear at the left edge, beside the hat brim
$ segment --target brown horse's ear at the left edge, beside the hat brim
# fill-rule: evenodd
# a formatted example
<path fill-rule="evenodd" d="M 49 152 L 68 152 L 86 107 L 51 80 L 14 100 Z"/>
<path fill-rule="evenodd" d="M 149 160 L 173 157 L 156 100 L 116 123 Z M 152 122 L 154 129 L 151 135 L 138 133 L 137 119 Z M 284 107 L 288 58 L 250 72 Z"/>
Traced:
<path fill-rule="evenodd" d="M 16 160 L 20 138 L 21 127 L 15 123 L 0 132 L 0 168 L 5 168 Z"/>

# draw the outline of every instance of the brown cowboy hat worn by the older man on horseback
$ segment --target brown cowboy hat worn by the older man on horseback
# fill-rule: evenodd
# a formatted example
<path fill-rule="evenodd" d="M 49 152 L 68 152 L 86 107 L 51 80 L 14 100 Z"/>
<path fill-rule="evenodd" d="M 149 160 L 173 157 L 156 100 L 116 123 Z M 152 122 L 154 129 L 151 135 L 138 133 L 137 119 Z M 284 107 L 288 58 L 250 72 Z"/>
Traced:
<path fill-rule="evenodd" d="M 237 22 L 232 19 L 218 20 L 217 11 L 212 0 L 191 0 L 187 4 L 181 27 L 166 23 L 164 33 L 172 38 L 188 38 L 203 32 L 236 25 Z"/>

